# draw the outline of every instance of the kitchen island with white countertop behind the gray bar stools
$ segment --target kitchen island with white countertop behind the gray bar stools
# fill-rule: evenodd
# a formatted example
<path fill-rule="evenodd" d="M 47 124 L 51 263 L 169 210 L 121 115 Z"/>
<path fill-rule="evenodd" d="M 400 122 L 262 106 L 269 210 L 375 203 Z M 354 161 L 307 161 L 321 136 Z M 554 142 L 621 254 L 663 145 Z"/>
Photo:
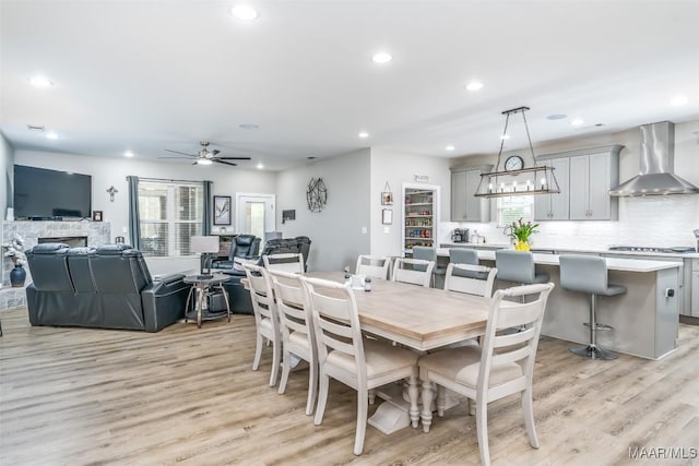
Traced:
<path fill-rule="evenodd" d="M 438 254 L 448 255 L 447 249 Z M 560 287 L 557 254 L 534 254 L 537 270 L 546 272 L 556 284 L 546 306 L 542 334 L 588 344 L 590 296 Z M 495 251 L 478 250 L 484 265 L 495 266 Z M 597 332 L 597 344 L 606 349 L 660 359 L 677 348 L 679 325 L 679 278 L 682 263 L 607 258 L 609 283 L 624 285 L 625 295 L 597 297 L 597 321 L 612 325 Z M 496 280 L 496 288 L 512 286 Z"/>

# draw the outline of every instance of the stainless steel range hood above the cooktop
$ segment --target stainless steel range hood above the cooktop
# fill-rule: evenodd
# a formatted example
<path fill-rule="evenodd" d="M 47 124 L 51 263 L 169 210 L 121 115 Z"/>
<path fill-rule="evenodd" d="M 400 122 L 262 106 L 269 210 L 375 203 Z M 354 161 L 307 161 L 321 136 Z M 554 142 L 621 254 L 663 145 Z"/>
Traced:
<path fill-rule="evenodd" d="M 696 194 L 699 188 L 676 176 L 675 123 L 641 127 L 641 171 L 609 191 L 614 196 Z"/>

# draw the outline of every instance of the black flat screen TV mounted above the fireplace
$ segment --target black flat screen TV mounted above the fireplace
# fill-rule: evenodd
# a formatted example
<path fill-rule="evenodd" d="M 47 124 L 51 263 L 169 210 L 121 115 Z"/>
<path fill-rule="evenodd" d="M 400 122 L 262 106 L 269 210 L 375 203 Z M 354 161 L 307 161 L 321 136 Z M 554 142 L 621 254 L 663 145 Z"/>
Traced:
<path fill-rule="evenodd" d="M 90 218 L 92 177 L 15 165 L 13 207 L 16 219 Z"/>

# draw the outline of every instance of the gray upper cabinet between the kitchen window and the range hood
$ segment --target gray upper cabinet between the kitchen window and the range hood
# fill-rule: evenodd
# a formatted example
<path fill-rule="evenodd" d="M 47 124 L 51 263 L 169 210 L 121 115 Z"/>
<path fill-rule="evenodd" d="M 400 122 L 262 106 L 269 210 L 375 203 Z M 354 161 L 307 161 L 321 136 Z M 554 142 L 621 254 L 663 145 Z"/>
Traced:
<path fill-rule="evenodd" d="M 556 168 L 560 194 L 536 196 L 535 218 L 616 220 L 618 200 L 609 195 L 609 190 L 619 183 L 619 152 L 623 147 L 615 144 L 537 157 L 541 164 Z"/>

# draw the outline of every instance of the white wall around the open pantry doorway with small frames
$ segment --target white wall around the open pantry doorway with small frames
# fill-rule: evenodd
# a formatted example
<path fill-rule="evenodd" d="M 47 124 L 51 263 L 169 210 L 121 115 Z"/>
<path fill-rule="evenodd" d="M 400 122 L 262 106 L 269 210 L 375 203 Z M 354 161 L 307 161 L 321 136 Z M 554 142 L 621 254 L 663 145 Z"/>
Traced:
<path fill-rule="evenodd" d="M 380 148 L 371 150 L 371 254 L 376 255 L 402 255 L 403 246 L 401 243 L 401 224 L 404 199 L 402 198 L 403 183 L 415 183 L 415 175 L 427 176 L 425 184 L 440 187 L 440 211 L 441 219 L 449 219 L 451 208 L 451 172 L 449 167 L 451 162 L 442 157 L 427 157 L 424 155 L 406 154 Z M 381 225 L 381 211 L 390 208 L 381 205 L 381 192 L 384 191 L 388 181 L 393 192 L 393 225 L 384 232 Z M 443 235 L 443 231 L 438 235 Z"/>

